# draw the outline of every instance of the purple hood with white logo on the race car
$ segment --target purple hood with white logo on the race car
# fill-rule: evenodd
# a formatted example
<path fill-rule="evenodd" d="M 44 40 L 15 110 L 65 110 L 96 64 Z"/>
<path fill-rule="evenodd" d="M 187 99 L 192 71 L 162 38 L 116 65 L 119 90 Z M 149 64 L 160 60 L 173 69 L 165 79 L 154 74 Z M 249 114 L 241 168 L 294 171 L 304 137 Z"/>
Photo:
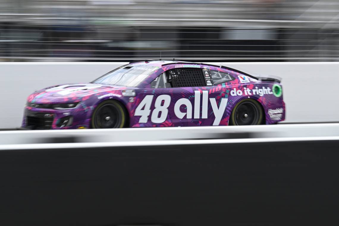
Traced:
<path fill-rule="evenodd" d="M 27 99 L 32 103 L 56 103 L 81 101 L 86 96 L 101 93 L 116 93 L 114 90 L 135 89 L 133 87 L 102 85 L 94 83 L 62 84 L 35 91 Z M 121 93 L 119 93 L 121 94 Z M 87 99 L 87 98 L 85 98 Z"/>

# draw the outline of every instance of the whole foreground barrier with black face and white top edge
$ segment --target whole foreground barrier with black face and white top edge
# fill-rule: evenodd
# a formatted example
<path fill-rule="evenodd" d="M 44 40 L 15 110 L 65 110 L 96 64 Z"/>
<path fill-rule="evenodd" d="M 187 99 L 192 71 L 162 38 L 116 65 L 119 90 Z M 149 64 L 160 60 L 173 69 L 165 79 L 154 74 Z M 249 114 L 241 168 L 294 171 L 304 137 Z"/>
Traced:
<path fill-rule="evenodd" d="M 194 128 L 194 136 L 200 133 L 195 140 L 192 128 L 139 129 L 139 138 L 137 129 L 106 130 L 112 140 L 96 142 L 3 144 L 2 139 L 0 224 L 333 224 L 339 210 L 337 126 L 321 124 L 322 137 L 287 136 L 312 130 L 315 135 L 315 125 L 277 125 Z M 280 137 L 267 137 L 279 128 Z M 211 139 L 212 131 L 224 137 Z M 39 134 L 11 132 L 18 140 Z M 42 141 L 64 133 L 78 139 L 95 132 L 104 133 L 39 136 Z M 239 137 L 224 139 L 231 133 Z M 260 138 L 239 139 L 258 133 Z M 127 134 L 130 140 L 119 141 Z M 145 139 L 156 134 L 157 140 Z"/>

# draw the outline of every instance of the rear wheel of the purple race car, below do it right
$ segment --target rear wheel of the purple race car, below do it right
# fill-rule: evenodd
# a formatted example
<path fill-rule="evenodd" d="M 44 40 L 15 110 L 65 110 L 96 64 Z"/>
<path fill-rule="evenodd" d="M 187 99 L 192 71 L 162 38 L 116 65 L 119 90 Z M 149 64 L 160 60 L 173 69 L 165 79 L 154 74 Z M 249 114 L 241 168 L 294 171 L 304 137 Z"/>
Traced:
<path fill-rule="evenodd" d="M 263 118 L 261 105 L 256 100 L 246 99 L 233 108 L 230 125 L 260 125 Z"/>

